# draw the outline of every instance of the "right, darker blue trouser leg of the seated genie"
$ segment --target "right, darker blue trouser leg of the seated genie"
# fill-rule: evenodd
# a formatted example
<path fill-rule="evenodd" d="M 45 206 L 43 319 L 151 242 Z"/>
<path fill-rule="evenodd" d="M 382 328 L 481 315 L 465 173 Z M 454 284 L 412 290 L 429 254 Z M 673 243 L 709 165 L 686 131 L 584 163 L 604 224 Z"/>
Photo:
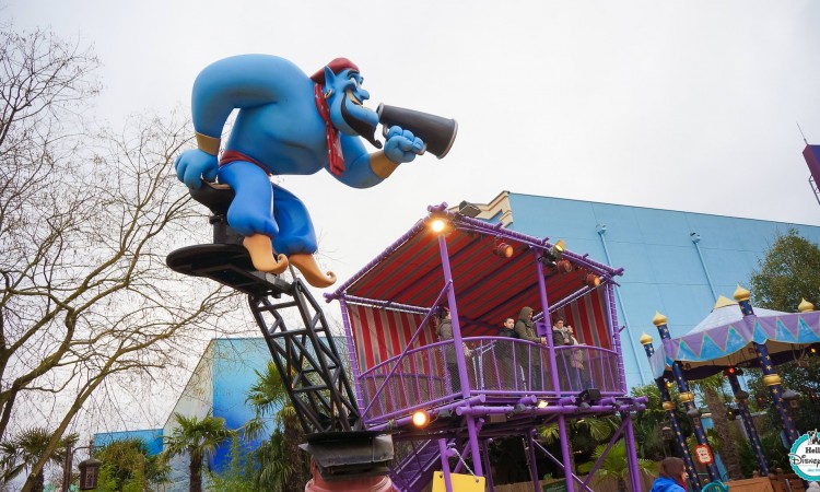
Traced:
<path fill-rule="evenodd" d="M 273 219 L 279 224 L 279 235 L 273 238 L 277 251 L 288 256 L 316 253 L 316 232 L 307 208 L 296 196 L 278 185 L 273 185 Z"/>

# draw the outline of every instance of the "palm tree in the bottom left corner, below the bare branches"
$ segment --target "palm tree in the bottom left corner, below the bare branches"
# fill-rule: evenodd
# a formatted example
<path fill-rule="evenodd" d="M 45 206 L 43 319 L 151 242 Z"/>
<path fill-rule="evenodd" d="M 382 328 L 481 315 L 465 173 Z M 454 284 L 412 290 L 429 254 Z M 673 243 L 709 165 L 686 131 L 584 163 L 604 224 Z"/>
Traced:
<path fill-rule="evenodd" d="M 48 442 L 54 435 L 44 427 L 32 427 L 20 432 L 9 441 L 0 443 L 0 467 L 2 468 L 2 482 L 8 483 L 23 472 L 28 470 L 43 457 Z M 60 440 L 57 450 L 48 457 L 49 461 L 62 464 L 66 458 L 66 448 L 77 444 L 79 436 L 69 434 Z M 32 491 L 42 492 L 45 487 L 43 473 L 31 478 L 34 481 Z"/>

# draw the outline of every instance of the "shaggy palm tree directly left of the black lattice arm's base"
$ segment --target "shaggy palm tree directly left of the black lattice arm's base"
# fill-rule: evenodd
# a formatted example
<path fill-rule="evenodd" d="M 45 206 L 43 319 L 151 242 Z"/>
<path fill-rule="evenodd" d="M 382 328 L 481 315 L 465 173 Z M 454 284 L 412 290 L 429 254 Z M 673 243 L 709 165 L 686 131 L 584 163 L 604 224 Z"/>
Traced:
<path fill-rule="evenodd" d="M 259 469 L 256 487 L 259 490 L 301 492 L 305 487 L 306 470 L 298 448 L 304 433 L 295 408 L 290 405 L 288 391 L 276 364 L 269 362 L 265 372 L 256 371 L 257 383 L 250 387 L 246 402 L 254 407 L 256 417 L 245 425 L 245 434 L 255 438 L 265 432 L 272 417 L 276 429 L 269 440 L 255 452 Z"/>

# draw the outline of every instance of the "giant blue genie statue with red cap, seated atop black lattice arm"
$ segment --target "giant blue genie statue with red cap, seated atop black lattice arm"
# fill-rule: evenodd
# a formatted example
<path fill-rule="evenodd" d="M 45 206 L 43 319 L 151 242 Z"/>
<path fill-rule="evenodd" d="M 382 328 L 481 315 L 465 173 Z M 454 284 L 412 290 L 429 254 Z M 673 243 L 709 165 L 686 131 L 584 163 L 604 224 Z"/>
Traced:
<path fill-rule="evenodd" d="M 385 132 L 382 148 L 374 137 L 380 107 L 363 105 L 370 94 L 362 81 L 345 58 L 307 77 L 292 62 L 267 55 L 226 58 L 197 77 L 191 108 L 198 149 L 177 157 L 177 177 L 191 189 L 202 179 L 233 188 L 227 223 L 244 236 L 257 270 L 281 273 L 290 263 L 314 286 L 336 281 L 313 256 L 316 234 L 304 203 L 271 176 L 324 167 L 348 186 L 368 188 L 424 152 L 419 134 L 398 125 Z M 234 109 L 238 114 L 219 156 Z M 380 150 L 368 153 L 360 137 Z"/>

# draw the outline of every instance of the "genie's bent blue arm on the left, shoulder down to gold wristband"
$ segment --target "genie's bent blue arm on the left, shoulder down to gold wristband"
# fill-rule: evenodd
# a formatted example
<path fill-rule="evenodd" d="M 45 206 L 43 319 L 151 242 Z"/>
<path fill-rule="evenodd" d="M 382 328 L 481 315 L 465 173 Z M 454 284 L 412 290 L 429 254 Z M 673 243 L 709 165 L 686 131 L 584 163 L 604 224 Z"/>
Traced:
<path fill-rule="evenodd" d="M 286 97 L 311 84 L 292 62 L 270 55 L 241 55 L 206 67 L 194 82 L 191 112 L 198 133 L 219 139 L 231 112 Z"/>

